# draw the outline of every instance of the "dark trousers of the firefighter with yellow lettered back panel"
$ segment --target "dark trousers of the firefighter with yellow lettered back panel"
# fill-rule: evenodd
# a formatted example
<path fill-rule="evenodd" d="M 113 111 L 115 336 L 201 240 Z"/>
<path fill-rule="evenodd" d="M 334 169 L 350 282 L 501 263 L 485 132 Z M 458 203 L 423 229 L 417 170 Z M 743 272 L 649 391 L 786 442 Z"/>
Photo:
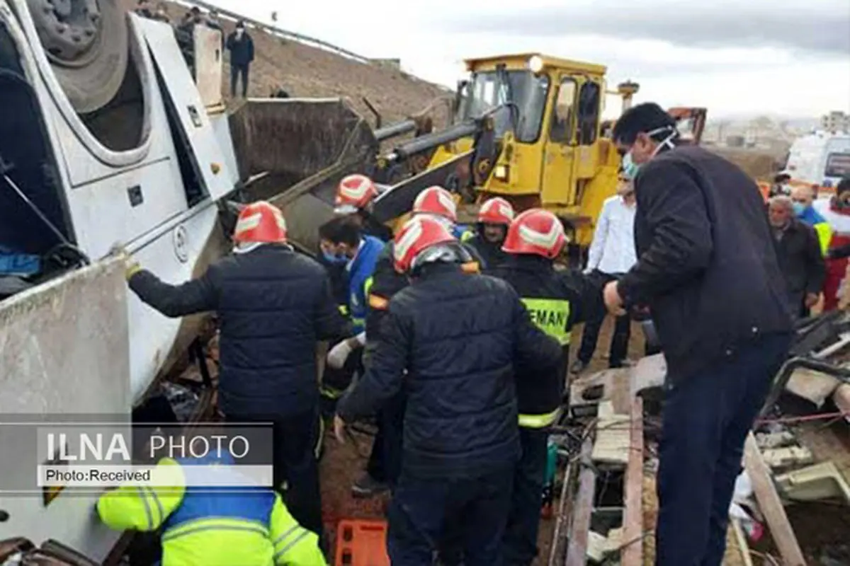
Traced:
<path fill-rule="evenodd" d="M 503 545 L 508 566 L 529 566 L 537 556 L 548 438 L 547 429 L 519 428 L 523 456 L 513 474 L 513 498 Z"/>

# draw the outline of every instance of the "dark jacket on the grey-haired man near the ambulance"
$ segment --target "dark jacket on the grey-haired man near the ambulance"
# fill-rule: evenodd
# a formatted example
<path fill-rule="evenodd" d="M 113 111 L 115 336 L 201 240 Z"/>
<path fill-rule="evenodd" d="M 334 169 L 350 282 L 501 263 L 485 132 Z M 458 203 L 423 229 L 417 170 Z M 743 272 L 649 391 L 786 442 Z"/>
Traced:
<path fill-rule="evenodd" d="M 795 218 L 781 235 L 774 235 L 779 268 L 788 284 L 791 311 L 800 311 L 806 294 L 819 294 L 824 286 L 826 263 L 818 234 L 813 227 Z"/>

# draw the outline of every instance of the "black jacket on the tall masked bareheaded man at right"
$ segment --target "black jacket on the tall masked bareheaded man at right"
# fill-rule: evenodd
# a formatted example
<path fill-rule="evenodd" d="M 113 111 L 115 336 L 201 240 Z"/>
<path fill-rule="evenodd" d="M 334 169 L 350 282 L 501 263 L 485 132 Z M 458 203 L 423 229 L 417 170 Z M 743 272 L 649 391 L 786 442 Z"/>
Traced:
<path fill-rule="evenodd" d="M 791 329 L 785 282 L 756 183 L 695 146 L 635 178 L 638 263 L 618 289 L 649 305 L 671 376 L 699 372 L 764 333 Z"/>

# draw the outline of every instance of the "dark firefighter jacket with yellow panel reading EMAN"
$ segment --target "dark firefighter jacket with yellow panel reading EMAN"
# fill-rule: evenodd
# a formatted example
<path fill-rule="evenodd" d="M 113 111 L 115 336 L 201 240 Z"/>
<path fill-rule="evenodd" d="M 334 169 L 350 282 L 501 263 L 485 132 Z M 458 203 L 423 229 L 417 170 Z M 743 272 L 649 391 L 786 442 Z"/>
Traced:
<path fill-rule="evenodd" d="M 517 369 L 519 425 L 530 429 L 550 426 L 558 419 L 570 358 L 570 333 L 578 322 L 604 309 L 602 287 L 580 272 L 557 272 L 553 263 L 537 255 L 508 256 L 490 270 L 517 291 L 531 321 L 558 340 L 563 356 L 547 373 Z"/>

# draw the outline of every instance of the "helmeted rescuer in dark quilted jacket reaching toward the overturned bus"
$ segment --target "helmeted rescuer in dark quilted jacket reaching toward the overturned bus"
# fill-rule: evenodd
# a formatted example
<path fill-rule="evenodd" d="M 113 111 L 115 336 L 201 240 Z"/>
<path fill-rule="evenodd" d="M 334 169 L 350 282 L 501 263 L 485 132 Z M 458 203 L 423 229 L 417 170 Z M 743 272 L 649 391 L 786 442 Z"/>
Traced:
<path fill-rule="evenodd" d="M 275 489 L 309 530 L 322 532 L 316 343 L 351 335 L 326 272 L 286 244 L 280 209 L 259 201 L 240 212 L 233 255 L 181 285 L 137 263 L 130 289 L 167 317 L 215 311 L 221 321 L 218 403 L 229 422 L 273 423 Z"/>

